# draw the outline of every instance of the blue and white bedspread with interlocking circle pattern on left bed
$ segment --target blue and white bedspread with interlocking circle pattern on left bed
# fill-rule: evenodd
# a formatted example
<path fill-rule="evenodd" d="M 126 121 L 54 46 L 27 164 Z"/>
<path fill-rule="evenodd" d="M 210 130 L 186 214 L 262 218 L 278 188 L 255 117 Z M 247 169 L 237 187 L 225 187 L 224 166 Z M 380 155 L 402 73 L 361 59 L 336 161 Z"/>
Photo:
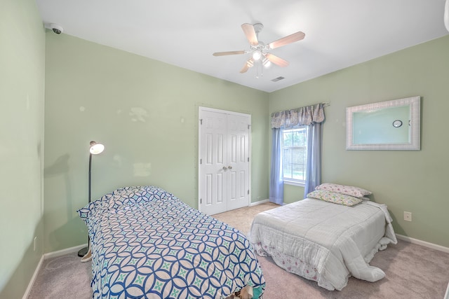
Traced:
<path fill-rule="evenodd" d="M 226 298 L 264 277 L 239 230 L 154 186 L 115 190 L 79 215 L 88 225 L 93 298 Z"/>

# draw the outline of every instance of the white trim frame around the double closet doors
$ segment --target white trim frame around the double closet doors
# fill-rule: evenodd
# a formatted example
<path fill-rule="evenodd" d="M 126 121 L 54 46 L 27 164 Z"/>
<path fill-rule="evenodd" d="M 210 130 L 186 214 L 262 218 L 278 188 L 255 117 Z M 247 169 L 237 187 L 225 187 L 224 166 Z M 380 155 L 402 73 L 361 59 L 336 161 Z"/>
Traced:
<path fill-rule="evenodd" d="M 201 157 L 201 114 L 202 111 L 210 111 L 210 112 L 216 112 L 216 113 L 223 113 L 223 114 L 229 114 L 234 116 L 246 116 L 249 118 L 250 125 L 248 128 L 248 158 L 250 159 L 248 162 L 248 207 L 251 205 L 251 194 L 253 193 L 253 190 L 251 188 L 251 163 L 252 163 L 252 157 L 251 157 L 251 128 L 252 128 L 252 120 L 251 115 L 248 113 L 241 113 L 241 112 L 235 112 L 235 111 L 229 111 L 229 110 L 222 110 L 222 109 L 215 109 L 215 108 L 209 108 L 205 106 L 199 106 L 198 107 L 198 158 L 196 160 L 196 165 L 198 167 L 198 209 L 201 211 L 201 165 L 200 165 L 200 157 Z"/>

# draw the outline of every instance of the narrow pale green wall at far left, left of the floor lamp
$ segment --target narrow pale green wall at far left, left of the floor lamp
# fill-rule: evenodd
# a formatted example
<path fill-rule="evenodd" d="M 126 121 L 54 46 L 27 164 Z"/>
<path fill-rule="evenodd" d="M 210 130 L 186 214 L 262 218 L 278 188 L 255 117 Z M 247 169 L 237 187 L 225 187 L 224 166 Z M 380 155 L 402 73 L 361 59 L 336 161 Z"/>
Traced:
<path fill-rule="evenodd" d="M 5 299 L 22 298 L 43 253 L 44 68 L 45 30 L 36 3 L 1 0 L 0 298 Z"/>

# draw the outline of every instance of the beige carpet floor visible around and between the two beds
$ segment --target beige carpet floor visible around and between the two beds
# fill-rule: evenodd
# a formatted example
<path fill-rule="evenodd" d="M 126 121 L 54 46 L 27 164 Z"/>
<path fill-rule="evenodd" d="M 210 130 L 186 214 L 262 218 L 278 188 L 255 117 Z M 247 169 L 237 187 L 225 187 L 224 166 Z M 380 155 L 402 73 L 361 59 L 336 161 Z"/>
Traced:
<path fill-rule="evenodd" d="M 248 234 L 253 217 L 274 207 L 277 205 L 267 202 L 214 217 Z M 389 245 L 371 261 L 387 274 L 384 279 L 368 282 L 351 277 L 342 291 L 327 291 L 314 281 L 288 273 L 271 258 L 258 260 L 267 284 L 264 299 L 443 299 L 449 281 L 449 253 L 403 241 Z M 92 298 L 90 280 L 91 263 L 80 263 L 76 253 L 52 258 L 44 261 L 28 298 Z"/>

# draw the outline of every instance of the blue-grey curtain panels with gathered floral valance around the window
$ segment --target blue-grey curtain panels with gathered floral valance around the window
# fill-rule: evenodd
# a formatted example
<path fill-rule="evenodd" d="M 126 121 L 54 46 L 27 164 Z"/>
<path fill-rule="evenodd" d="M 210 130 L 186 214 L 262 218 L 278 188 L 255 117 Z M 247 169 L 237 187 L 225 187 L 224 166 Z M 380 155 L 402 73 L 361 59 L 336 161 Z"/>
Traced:
<path fill-rule="evenodd" d="M 321 135 L 324 121 L 323 103 L 272 113 L 272 171 L 269 200 L 283 203 L 282 130 L 307 125 L 307 167 L 304 196 L 321 183 Z"/>

